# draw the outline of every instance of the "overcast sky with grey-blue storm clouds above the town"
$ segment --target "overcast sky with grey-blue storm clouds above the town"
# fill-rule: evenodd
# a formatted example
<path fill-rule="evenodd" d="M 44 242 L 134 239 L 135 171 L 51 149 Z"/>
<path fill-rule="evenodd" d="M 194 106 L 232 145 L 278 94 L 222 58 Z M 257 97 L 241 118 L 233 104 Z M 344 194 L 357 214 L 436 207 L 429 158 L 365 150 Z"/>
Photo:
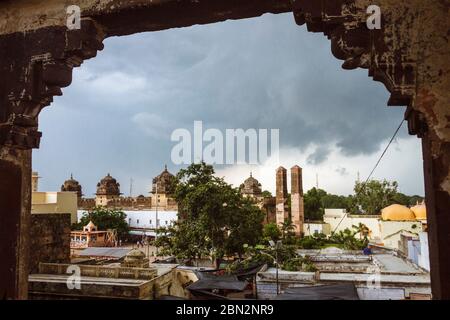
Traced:
<path fill-rule="evenodd" d="M 109 38 L 97 58 L 74 70 L 73 83 L 40 116 L 33 170 L 41 191 L 71 173 L 92 197 L 111 173 L 128 195 L 148 194 L 171 161 L 177 128 L 280 129 L 280 163 L 217 167 L 235 185 L 249 172 L 274 191 L 278 165 L 303 167 L 304 189 L 337 194 L 364 179 L 400 123 L 387 90 L 367 70 L 344 71 L 330 42 L 306 32 L 292 14 Z M 420 141 L 406 124 L 374 174 L 423 191 Z"/>

